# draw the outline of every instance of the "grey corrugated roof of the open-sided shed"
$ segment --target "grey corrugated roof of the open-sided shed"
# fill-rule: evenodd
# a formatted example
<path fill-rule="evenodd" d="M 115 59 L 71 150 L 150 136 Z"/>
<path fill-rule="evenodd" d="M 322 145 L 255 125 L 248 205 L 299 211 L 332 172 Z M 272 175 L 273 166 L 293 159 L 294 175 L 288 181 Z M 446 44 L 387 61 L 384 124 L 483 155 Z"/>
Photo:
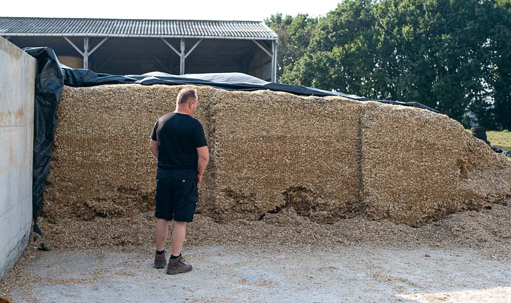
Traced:
<path fill-rule="evenodd" d="M 276 40 L 261 21 L 0 17 L 2 36 L 184 37 Z"/>

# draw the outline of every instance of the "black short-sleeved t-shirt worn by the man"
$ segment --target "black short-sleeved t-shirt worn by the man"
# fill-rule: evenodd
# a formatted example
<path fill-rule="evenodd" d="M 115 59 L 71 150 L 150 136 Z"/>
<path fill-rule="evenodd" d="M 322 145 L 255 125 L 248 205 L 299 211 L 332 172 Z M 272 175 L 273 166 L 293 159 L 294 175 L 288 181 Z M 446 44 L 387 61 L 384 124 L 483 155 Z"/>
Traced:
<path fill-rule="evenodd" d="M 164 169 L 197 170 L 197 148 L 207 145 L 200 122 L 177 112 L 156 121 L 151 139 L 158 142 L 158 167 Z"/>

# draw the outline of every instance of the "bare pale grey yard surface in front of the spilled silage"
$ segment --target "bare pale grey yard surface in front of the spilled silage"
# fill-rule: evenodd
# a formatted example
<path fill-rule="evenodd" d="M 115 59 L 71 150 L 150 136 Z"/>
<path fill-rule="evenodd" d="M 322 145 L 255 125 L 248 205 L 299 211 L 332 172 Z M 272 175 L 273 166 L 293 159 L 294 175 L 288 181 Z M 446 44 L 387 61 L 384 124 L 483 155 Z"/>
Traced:
<path fill-rule="evenodd" d="M 167 275 L 144 253 L 51 251 L 27 262 L 16 302 L 509 302 L 511 264 L 471 249 L 187 249 Z"/>

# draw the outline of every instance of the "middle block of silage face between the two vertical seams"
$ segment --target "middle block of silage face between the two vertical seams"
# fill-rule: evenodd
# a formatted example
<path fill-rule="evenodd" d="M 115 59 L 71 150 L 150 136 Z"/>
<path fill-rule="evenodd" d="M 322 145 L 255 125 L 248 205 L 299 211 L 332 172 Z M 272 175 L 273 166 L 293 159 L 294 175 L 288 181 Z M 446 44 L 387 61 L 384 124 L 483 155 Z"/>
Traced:
<path fill-rule="evenodd" d="M 258 219 L 289 206 L 318 221 L 359 213 L 356 102 L 223 92 L 209 114 L 215 125 L 213 209 L 219 218 Z"/>

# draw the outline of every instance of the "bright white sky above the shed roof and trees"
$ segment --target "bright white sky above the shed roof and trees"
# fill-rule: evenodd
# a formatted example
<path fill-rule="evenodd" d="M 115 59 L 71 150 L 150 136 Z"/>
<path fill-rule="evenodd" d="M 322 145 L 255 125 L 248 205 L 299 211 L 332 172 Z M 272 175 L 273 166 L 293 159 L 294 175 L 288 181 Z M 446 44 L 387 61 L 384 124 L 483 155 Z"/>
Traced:
<path fill-rule="evenodd" d="M 313 1 L 4 1 L 1 17 L 198 19 L 262 21 L 272 14 L 324 16 L 341 0 Z"/>

